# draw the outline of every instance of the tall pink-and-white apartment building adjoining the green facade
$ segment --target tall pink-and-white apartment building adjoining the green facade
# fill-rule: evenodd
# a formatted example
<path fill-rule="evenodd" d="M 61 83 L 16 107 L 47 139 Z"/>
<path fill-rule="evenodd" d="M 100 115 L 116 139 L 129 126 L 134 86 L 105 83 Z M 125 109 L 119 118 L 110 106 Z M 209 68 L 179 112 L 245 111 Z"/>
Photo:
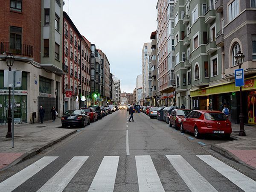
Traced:
<path fill-rule="evenodd" d="M 174 1 L 157 1 L 157 87 L 158 105 L 174 105 L 175 38 Z"/>

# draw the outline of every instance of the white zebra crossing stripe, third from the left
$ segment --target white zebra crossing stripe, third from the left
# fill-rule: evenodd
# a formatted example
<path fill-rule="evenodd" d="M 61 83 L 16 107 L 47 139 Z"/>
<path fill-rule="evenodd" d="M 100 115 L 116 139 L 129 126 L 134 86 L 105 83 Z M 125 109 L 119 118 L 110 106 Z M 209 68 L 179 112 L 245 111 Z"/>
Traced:
<path fill-rule="evenodd" d="M 88 192 L 113 192 L 119 156 L 105 156 Z"/>

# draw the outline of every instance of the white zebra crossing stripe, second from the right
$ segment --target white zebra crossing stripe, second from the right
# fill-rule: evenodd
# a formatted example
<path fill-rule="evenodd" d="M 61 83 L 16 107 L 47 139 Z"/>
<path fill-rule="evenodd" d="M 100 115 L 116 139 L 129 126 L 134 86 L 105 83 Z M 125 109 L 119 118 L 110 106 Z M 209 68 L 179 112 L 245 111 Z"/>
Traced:
<path fill-rule="evenodd" d="M 180 177 L 184 180 L 191 191 L 214 191 L 217 190 L 198 173 L 183 157 L 180 155 L 166 155 L 172 163 Z"/>

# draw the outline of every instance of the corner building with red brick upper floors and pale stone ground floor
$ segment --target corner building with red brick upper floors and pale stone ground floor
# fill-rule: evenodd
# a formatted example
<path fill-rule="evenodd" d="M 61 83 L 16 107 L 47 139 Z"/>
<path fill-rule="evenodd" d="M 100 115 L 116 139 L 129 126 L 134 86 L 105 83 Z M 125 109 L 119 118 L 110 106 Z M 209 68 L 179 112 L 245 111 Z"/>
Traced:
<path fill-rule="evenodd" d="M 7 54 L 15 56 L 12 70 L 22 71 L 21 87 L 15 88 L 15 123 L 33 122 L 40 105 L 45 120 L 55 106 L 62 113 L 62 0 L 0 0 L 0 123 L 6 124 L 8 88 L 3 87 Z M 33 10 L 33 11 L 32 11 Z M 38 117 L 39 118 L 39 117 Z"/>

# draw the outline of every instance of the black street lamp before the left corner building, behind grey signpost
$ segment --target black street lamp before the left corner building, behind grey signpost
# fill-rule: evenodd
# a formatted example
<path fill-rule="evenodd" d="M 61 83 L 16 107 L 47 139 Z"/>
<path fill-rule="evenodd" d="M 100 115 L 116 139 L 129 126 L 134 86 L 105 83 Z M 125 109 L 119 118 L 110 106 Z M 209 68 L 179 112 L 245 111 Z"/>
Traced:
<path fill-rule="evenodd" d="M 5 57 L 6 59 L 6 65 L 9 68 L 9 71 L 11 71 L 15 57 L 12 54 L 8 54 Z M 14 86 L 14 85 L 13 85 Z M 13 107 L 13 106 L 12 106 Z M 8 95 L 8 117 L 7 117 L 7 134 L 6 138 L 11 138 L 12 137 L 12 116 L 11 116 L 11 87 L 9 87 L 9 95 Z"/>

